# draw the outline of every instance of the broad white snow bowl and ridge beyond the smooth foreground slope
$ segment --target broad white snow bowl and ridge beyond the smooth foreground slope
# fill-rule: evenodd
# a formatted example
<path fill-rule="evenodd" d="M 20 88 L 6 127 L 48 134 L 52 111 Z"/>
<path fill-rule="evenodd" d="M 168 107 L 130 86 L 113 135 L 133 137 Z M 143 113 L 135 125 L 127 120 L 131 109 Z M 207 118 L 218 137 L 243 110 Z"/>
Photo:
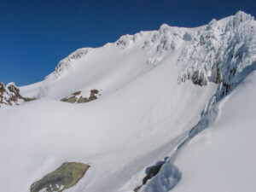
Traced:
<path fill-rule="evenodd" d="M 245 19 L 225 30 L 237 18 Z M 232 38 L 247 27 L 254 27 L 245 35 L 250 41 Z M 28 192 L 32 183 L 67 161 L 89 163 L 90 169 L 65 191 L 132 191 L 143 183 L 148 166 L 175 154 L 212 104 L 253 71 L 255 27 L 253 17 L 238 12 L 207 26 L 163 25 L 159 31 L 125 35 L 102 48 L 68 55 L 44 81 L 20 87 L 22 96 L 38 100 L 1 108 L 0 191 Z M 216 39 L 207 36 L 207 43 L 201 44 L 198 39 L 207 32 L 215 32 Z M 225 67 L 236 50 L 224 55 L 228 48 L 212 52 L 210 44 L 223 46 L 227 40 L 244 43 L 236 44 L 237 49 L 247 45 L 239 49 L 242 61 L 232 57 L 232 67 L 239 73 L 232 71 L 228 80 Z M 215 58 L 217 53 L 227 62 L 212 62 L 209 67 L 207 61 L 196 60 L 207 54 Z M 93 102 L 60 101 L 76 91 L 88 96 L 93 89 L 102 91 Z M 172 165 L 167 162 L 160 175 L 165 167 Z M 143 189 L 150 191 L 154 180 Z"/>

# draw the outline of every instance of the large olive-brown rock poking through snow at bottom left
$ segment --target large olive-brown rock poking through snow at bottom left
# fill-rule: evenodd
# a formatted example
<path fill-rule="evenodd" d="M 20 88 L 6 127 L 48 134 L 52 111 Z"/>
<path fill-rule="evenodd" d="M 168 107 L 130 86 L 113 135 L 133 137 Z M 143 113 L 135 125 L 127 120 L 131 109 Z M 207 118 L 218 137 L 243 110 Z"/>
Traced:
<path fill-rule="evenodd" d="M 50 172 L 39 181 L 32 184 L 30 191 L 38 192 L 45 189 L 46 192 L 58 191 L 73 187 L 84 177 L 89 165 L 84 163 L 67 162 L 63 163 L 54 172 Z"/>

